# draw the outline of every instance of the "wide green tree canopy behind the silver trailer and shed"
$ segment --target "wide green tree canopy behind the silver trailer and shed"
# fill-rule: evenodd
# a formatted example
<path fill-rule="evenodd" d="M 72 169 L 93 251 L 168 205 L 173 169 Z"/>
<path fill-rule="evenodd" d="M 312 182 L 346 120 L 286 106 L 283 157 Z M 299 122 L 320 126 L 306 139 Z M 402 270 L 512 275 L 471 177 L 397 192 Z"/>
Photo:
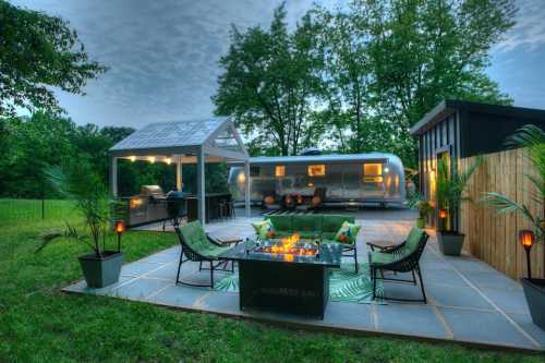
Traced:
<path fill-rule="evenodd" d="M 440 100 L 512 102 L 485 70 L 516 11 L 513 0 L 352 0 L 312 9 L 290 33 L 281 5 L 268 31 L 233 29 L 216 112 L 242 125 L 252 153 L 319 144 L 414 166 L 409 129 Z"/>

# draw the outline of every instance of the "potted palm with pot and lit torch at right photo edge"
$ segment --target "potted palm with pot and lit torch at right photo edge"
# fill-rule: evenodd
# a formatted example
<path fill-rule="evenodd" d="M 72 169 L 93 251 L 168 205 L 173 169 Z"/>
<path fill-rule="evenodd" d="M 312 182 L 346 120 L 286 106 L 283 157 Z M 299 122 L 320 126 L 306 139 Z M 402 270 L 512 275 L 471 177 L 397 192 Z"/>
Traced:
<path fill-rule="evenodd" d="M 545 133 L 535 125 L 525 125 L 512 135 L 508 143 L 516 147 L 526 147 L 530 162 L 537 170 L 536 174 L 524 174 L 534 186 L 533 197 L 541 205 L 538 214 L 499 193 L 486 193 L 484 202 L 497 213 L 520 213 L 529 222 L 530 229 L 519 232 L 519 242 L 526 252 L 528 277 L 521 278 L 532 320 L 545 330 L 545 279 L 532 278 L 530 251 L 535 243 L 543 243 L 545 238 Z"/>

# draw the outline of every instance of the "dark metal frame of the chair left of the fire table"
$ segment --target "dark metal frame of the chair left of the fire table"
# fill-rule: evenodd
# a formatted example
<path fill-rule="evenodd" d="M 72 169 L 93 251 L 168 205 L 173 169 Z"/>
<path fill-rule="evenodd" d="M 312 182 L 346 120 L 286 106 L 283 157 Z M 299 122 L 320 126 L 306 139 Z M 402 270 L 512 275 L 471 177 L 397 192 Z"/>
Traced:
<path fill-rule="evenodd" d="M 178 240 L 180 241 L 180 245 L 182 247 L 182 251 L 180 252 L 180 262 L 178 264 L 178 274 L 175 277 L 175 283 L 180 285 L 185 285 L 185 286 L 191 286 L 191 287 L 198 287 L 198 288 L 214 288 L 214 271 L 230 271 L 234 273 L 234 263 L 231 262 L 231 268 L 228 268 L 228 261 L 218 261 L 216 258 L 208 258 L 206 256 L 201 255 L 196 251 L 194 251 L 192 247 L 190 247 L 186 243 L 185 240 L 183 239 L 182 233 L 180 232 L 180 229 L 178 227 L 174 228 L 175 234 L 178 235 Z M 211 243 L 218 245 L 218 246 L 223 246 L 221 243 L 219 243 L 216 239 L 211 238 L 210 235 L 206 234 L 206 238 L 208 241 Z M 183 255 L 185 255 L 185 259 L 183 259 Z M 182 268 L 182 264 L 185 262 L 198 262 L 198 270 L 209 270 L 210 271 L 210 283 L 193 283 L 193 282 L 184 282 L 180 280 L 180 269 Z M 203 267 L 203 262 L 208 262 L 210 267 Z M 219 267 L 223 266 L 223 267 Z"/>

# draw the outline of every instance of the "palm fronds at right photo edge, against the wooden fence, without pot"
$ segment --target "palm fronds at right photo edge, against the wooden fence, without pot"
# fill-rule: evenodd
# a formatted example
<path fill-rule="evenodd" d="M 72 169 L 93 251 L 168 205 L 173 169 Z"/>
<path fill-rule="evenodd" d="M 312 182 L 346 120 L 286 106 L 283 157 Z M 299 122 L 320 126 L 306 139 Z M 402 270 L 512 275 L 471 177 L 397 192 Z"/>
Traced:
<path fill-rule="evenodd" d="M 523 204 L 509 198 L 506 195 L 488 192 L 483 202 L 496 209 L 498 214 L 520 213 L 532 225 L 532 229 L 537 237 L 537 241 L 545 238 L 545 133 L 533 124 L 522 126 L 508 138 L 507 144 L 511 147 L 526 147 L 528 158 L 537 170 L 537 174 L 524 173 L 525 178 L 535 186 L 531 192 L 531 199 L 541 205 L 541 214 L 533 214 Z"/>

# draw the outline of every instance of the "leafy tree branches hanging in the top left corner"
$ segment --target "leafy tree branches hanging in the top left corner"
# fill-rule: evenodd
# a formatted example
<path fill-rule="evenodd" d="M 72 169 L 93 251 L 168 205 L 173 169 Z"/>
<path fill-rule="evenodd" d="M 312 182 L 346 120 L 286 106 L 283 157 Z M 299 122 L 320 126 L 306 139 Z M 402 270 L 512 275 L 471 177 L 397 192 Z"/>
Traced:
<path fill-rule="evenodd" d="M 0 117 L 16 107 L 58 112 L 48 86 L 84 94 L 87 80 L 105 71 L 66 21 L 0 0 Z"/>

